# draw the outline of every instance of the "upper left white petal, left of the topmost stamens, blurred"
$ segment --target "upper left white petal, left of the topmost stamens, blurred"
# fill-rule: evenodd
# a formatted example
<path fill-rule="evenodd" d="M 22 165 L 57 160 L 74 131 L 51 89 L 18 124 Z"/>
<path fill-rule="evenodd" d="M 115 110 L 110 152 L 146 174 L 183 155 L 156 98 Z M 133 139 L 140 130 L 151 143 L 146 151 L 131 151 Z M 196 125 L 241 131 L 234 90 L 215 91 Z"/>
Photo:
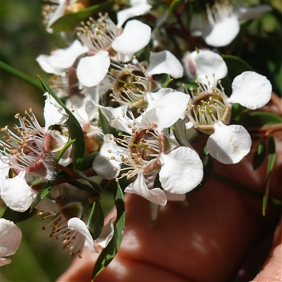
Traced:
<path fill-rule="evenodd" d="M 57 49 L 50 56 L 50 63 L 56 68 L 71 68 L 78 56 L 85 54 L 88 51 L 87 47 L 75 40 L 70 47 L 66 49 Z"/>

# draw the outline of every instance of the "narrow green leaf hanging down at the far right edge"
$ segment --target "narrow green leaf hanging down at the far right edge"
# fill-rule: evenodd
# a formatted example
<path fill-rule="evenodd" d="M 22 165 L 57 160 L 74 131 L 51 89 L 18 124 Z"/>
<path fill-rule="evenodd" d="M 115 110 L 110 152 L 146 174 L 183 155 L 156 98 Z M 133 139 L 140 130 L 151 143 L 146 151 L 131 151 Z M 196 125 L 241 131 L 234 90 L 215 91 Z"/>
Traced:
<path fill-rule="evenodd" d="M 274 137 L 269 136 L 268 140 L 268 154 L 267 154 L 267 172 L 266 172 L 266 182 L 264 185 L 264 197 L 262 198 L 262 215 L 266 215 L 266 207 L 267 207 L 267 202 L 269 198 L 269 180 L 271 176 L 271 172 L 274 168 L 274 163 L 275 163 L 275 142 L 274 142 Z"/>

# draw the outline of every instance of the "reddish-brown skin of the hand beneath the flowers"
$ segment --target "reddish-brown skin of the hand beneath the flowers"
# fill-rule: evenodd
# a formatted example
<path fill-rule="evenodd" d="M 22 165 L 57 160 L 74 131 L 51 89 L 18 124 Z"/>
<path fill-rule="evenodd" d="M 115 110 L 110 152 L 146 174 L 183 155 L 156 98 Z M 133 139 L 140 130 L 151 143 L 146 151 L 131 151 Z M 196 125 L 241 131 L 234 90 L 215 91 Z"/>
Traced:
<path fill-rule="evenodd" d="M 249 157 L 231 166 L 216 164 L 216 171 L 262 194 L 266 164 L 252 171 L 250 161 Z M 271 178 L 271 196 L 278 198 L 281 198 L 280 161 L 281 158 Z M 262 200 L 215 178 L 193 192 L 188 206 L 168 202 L 161 207 L 153 226 L 149 224 L 147 200 L 128 194 L 125 208 L 121 249 L 95 281 L 232 281 L 245 257 L 273 233 L 281 214 L 281 209 L 269 204 L 263 217 Z M 84 250 L 82 259 L 76 258 L 58 281 L 91 281 L 97 257 Z M 280 223 L 270 259 L 253 281 L 281 281 L 281 278 Z"/>

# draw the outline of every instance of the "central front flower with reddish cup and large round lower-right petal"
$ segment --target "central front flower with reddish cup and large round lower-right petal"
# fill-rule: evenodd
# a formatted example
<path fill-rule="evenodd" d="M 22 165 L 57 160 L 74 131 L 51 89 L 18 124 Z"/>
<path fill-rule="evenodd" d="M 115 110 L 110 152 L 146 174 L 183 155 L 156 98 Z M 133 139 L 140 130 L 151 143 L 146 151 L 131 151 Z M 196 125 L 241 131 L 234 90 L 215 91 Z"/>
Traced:
<path fill-rule="evenodd" d="M 130 116 L 132 119 L 125 115 L 117 119 L 126 134 L 119 133 L 118 138 L 105 136 L 105 142 L 94 159 L 94 170 L 106 179 L 117 177 L 117 181 L 137 176 L 125 192 L 141 195 L 156 204 L 165 205 L 173 196 L 183 199 L 183 195 L 202 180 L 203 166 L 197 152 L 178 145 L 172 133 L 165 134 L 161 119 L 166 116 L 157 116 L 154 109 L 136 119 L 132 114 Z M 166 127 L 176 121 L 174 118 L 169 120 Z M 125 168 L 121 168 L 121 164 Z M 153 188 L 157 173 L 162 189 Z"/>

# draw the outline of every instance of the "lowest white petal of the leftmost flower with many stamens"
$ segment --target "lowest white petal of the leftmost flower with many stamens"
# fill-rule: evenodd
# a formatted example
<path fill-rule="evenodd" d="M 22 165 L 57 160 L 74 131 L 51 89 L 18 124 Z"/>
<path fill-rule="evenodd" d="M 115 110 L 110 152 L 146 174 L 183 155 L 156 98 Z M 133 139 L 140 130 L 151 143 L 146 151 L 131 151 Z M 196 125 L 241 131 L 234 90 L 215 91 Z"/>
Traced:
<path fill-rule="evenodd" d="M 37 192 L 25 181 L 25 171 L 20 171 L 14 178 L 1 176 L 1 197 L 6 205 L 16 212 L 25 212 L 32 204 Z"/>

